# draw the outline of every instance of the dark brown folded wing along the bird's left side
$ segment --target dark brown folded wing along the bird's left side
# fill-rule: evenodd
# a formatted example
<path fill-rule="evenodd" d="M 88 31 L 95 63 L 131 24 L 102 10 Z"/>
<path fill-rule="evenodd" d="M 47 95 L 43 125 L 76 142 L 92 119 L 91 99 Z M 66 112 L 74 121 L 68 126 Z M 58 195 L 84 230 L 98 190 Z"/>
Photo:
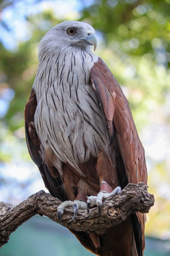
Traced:
<path fill-rule="evenodd" d="M 51 174 L 53 172 L 58 173 L 57 169 L 54 166 L 51 166 L 51 168 L 55 168 L 55 170 L 50 171 L 49 166 L 43 163 L 41 158 L 43 148 L 34 126 L 34 113 L 36 107 L 37 99 L 35 92 L 32 89 L 29 101 L 26 104 L 24 110 L 26 143 L 29 150 L 29 154 L 33 162 L 35 162 L 35 164 L 38 166 L 42 178 L 44 180 L 44 184 L 51 193 L 51 195 L 64 201 L 67 200 L 67 198 L 63 189 L 62 180 L 59 175 L 56 175 L 57 177 L 53 177 Z"/>

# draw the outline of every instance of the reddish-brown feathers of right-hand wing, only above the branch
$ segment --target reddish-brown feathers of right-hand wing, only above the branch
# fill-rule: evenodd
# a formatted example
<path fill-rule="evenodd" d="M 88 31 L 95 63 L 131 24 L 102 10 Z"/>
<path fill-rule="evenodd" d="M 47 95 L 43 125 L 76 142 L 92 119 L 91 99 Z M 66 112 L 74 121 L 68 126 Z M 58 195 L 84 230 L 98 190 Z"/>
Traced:
<path fill-rule="evenodd" d="M 147 182 L 144 148 L 137 134 L 126 97 L 101 58 L 92 67 L 90 76 L 103 106 L 106 120 L 110 122 L 110 126 L 113 126 L 128 182 Z"/>

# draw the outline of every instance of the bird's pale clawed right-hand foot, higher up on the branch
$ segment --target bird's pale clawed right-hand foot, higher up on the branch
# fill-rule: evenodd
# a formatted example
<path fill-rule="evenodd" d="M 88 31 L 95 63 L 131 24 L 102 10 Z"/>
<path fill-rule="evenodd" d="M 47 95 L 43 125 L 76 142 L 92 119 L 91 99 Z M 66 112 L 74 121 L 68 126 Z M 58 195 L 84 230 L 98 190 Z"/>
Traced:
<path fill-rule="evenodd" d="M 121 191 L 121 187 L 117 186 L 114 190 L 105 182 L 102 180 L 100 183 L 100 192 L 97 194 L 97 196 L 89 196 L 87 198 L 87 212 L 89 213 L 90 207 L 93 207 L 97 205 L 98 212 L 100 215 L 100 208 L 104 200 L 113 198 L 114 195 L 119 193 Z"/>

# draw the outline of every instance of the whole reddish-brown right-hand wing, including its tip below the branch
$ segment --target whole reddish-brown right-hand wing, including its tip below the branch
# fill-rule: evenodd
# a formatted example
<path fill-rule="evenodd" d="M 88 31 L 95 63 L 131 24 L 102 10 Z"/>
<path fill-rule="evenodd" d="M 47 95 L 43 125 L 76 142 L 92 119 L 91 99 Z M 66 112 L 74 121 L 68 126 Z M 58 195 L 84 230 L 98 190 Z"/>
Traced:
<path fill-rule="evenodd" d="M 90 76 L 106 117 L 110 144 L 114 146 L 117 153 L 120 185 L 124 187 L 131 182 L 147 183 L 144 148 L 124 93 L 101 58 L 92 67 Z M 144 250 L 145 220 L 143 213 L 131 216 L 138 255 L 142 255 Z"/>

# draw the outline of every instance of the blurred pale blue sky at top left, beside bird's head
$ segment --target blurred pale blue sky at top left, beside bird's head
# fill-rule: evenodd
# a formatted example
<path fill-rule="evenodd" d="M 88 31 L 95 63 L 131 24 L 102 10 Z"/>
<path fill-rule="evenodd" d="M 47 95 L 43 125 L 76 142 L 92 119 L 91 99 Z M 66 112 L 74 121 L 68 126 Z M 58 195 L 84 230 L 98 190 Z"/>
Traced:
<path fill-rule="evenodd" d="M 86 5 L 93 1 L 86 1 Z M 46 9 L 52 9 L 56 17 L 64 19 L 79 18 L 79 11 L 82 9 L 81 1 L 78 0 L 15 0 L 14 4 L 4 8 L 1 12 L 1 21 L 7 26 L 4 29 L 0 25 L 0 40 L 8 50 L 17 47 L 18 42 L 28 40 L 31 37 L 31 28 L 27 29 L 26 17 L 41 13 Z M 50 25 L 50 24 L 49 24 Z M 48 29 L 44 27 L 44 30 Z"/>

